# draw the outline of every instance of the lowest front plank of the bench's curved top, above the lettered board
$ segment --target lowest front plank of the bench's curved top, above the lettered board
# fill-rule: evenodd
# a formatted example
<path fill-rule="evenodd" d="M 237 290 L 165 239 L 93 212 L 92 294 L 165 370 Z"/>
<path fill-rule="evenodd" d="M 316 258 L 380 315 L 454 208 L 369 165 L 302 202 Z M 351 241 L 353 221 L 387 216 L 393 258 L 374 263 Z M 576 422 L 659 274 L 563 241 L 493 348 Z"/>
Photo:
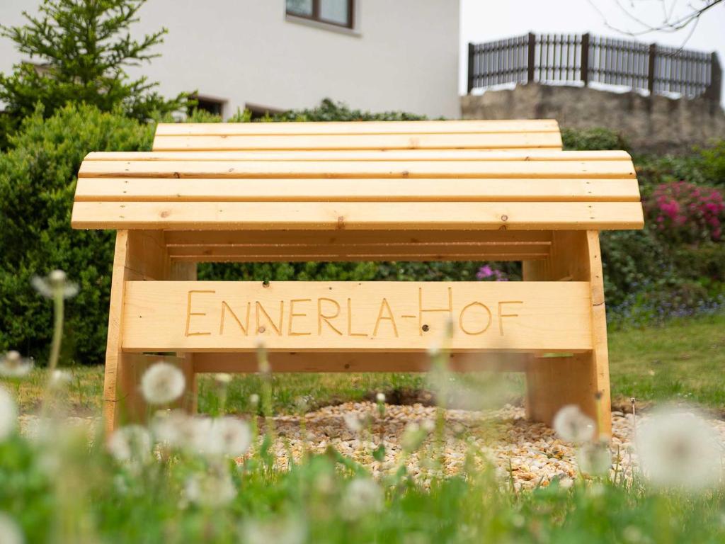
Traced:
<path fill-rule="evenodd" d="M 75 202 L 73 228 L 577 230 L 642 228 L 639 202 Z"/>

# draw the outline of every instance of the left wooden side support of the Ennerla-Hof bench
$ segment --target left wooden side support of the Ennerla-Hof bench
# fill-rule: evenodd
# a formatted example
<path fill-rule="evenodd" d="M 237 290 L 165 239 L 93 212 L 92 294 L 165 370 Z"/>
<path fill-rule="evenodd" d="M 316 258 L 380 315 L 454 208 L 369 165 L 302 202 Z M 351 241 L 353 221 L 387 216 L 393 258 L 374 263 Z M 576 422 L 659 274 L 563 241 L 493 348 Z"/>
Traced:
<path fill-rule="evenodd" d="M 148 409 L 138 385 L 146 368 L 154 360 L 161 358 L 125 353 L 122 349 L 126 281 L 164 279 L 196 279 L 196 265 L 171 264 L 163 231 L 117 231 L 104 377 L 104 420 L 107 434 L 126 422 L 143 421 L 146 418 Z M 178 364 L 184 371 L 189 392 L 182 405 L 193 411 L 196 408 L 196 382 L 190 357 L 183 355 L 183 358 L 168 360 Z"/>

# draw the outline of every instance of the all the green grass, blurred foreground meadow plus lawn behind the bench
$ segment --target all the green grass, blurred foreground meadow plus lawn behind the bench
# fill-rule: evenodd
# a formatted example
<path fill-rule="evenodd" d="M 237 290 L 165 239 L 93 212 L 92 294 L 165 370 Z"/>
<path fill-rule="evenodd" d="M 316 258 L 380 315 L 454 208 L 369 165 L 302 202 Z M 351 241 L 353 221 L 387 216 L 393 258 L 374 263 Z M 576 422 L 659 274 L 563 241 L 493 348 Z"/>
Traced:
<path fill-rule="evenodd" d="M 626 403 L 630 396 L 642 402 L 676 398 L 721 411 L 724 403 L 718 387 L 725 362 L 724 331 L 725 316 L 613 330 L 615 403 Z M 72 410 L 97 413 L 102 368 L 75 368 L 72 375 L 70 396 L 65 397 Z M 6 384 L 16 392 L 22 411 L 39 410 L 43 378 L 37 369 L 29 380 Z M 312 406 L 360 400 L 377 391 L 386 392 L 393 403 L 425 399 L 422 375 L 282 374 L 271 380 L 270 384 L 263 376 L 237 376 L 228 384 L 228 408 L 249 411 L 254 393 L 262 394 L 262 413 L 297 411 L 299 397 L 307 397 Z M 223 387 L 220 382 L 203 377 L 202 411 L 215 411 L 219 387 Z M 497 390 L 499 394 L 493 395 L 497 399 L 520 399 L 522 388 L 521 376 L 511 374 L 493 382 L 490 390 Z M 54 424 L 38 439 L 25 440 L 16 433 L 0 440 L 0 542 L 3 530 L 7 537 L 8 514 L 25 532 L 27 542 L 634 544 L 716 543 L 725 538 L 725 495 L 714 471 L 708 478 L 717 482 L 713 487 L 689 492 L 650 485 L 646 474 L 623 479 L 584 473 L 515 491 L 513 472 L 507 476 L 494 469 L 473 445 L 478 433 L 485 432 L 483 422 L 481 428 L 459 432 L 436 419 L 428 438 L 426 432 L 418 435 L 422 424 L 406 427 L 400 455 L 403 461 L 416 456 L 426 467 L 431 477 L 423 484 L 402 461 L 371 479 L 367 465 L 343 456 L 332 445 L 321 454 L 305 453 L 289 470 L 280 469 L 270 445 L 286 444 L 283 448 L 291 456 L 294 437 L 283 430 L 275 434 L 270 424 L 259 436 L 254 419 L 247 420 L 252 421 L 252 440 L 241 436 L 244 448 L 249 448 L 244 455 L 235 450 L 220 456 L 204 448 L 194 453 L 188 446 L 161 442 L 162 436 L 188 440 L 184 432 L 161 434 L 153 426 L 160 449 L 152 457 L 146 429 L 126 427 L 123 440 L 105 445 L 99 437 L 89 447 L 86 434 L 52 419 L 52 411 L 50 417 Z M 183 429 L 194 429 L 188 424 Z M 510 425 L 516 428 L 515 423 Z M 353 442 L 365 444 L 368 457 L 384 455 L 393 446 L 383 441 L 382 434 L 379 440 L 373 437 L 371 428 L 363 429 L 360 440 Z M 406 446 L 405 440 L 415 436 L 415 444 Z M 239 438 L 228 446 L 238 448 Z M 468 445 L 462 471 L 455 477 L 439 477 L 439 452 L 452 441 Z M 580 452 L 594 446 L 592 442 Z M 694 445 L 693 451 L 702 446 Z M 616 457 L 613 462 L 617 474 Z"/>

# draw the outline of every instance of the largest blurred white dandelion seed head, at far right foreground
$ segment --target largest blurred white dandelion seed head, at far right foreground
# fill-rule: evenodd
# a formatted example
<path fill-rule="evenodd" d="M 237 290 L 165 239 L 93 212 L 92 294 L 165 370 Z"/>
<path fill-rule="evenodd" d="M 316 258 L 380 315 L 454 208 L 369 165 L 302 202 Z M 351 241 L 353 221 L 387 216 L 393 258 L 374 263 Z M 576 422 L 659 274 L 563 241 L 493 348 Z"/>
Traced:
<path fill-rule="evenodd" d="M 637 453 L 645 478 L 655 487 L 704 490 L 723 476 L 723 445 L 695 411 L 653 413 L 639 424 Z"/>

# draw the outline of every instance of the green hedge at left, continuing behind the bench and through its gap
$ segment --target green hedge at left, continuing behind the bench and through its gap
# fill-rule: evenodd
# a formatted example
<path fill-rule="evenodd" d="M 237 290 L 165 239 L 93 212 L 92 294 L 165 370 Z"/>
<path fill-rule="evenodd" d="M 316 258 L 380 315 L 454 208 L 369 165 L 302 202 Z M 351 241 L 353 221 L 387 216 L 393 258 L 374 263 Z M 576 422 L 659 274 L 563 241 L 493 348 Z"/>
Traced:
<path fill-rule="evenodd" d="M 373 114 L 324 101 L 312 110 L 274 120 L 415 120 L 400 112 Z M 189 121 L 218 122 L 196 112 Z M 240 113 L 235 120 L 249 120 Z M 101 363 L 108 319 L 113 231 L 75 231 L 70 211 L 76 173 L 91 151 L 151 149 L 154 124 L 120 113 L 67 106 L 43 120 L 26 119 L 11 148 L 0 153 L 0 352 L 8 349 L 46 359 L 51 305 L 30 287 L 33 275 L 62 268 L 80 284 L 68 303 L 63 357 L 66 362 Z M 252 263 L 204 264 L 202 279 L 447 280 L 475 279 L 481 263 Z"/>

